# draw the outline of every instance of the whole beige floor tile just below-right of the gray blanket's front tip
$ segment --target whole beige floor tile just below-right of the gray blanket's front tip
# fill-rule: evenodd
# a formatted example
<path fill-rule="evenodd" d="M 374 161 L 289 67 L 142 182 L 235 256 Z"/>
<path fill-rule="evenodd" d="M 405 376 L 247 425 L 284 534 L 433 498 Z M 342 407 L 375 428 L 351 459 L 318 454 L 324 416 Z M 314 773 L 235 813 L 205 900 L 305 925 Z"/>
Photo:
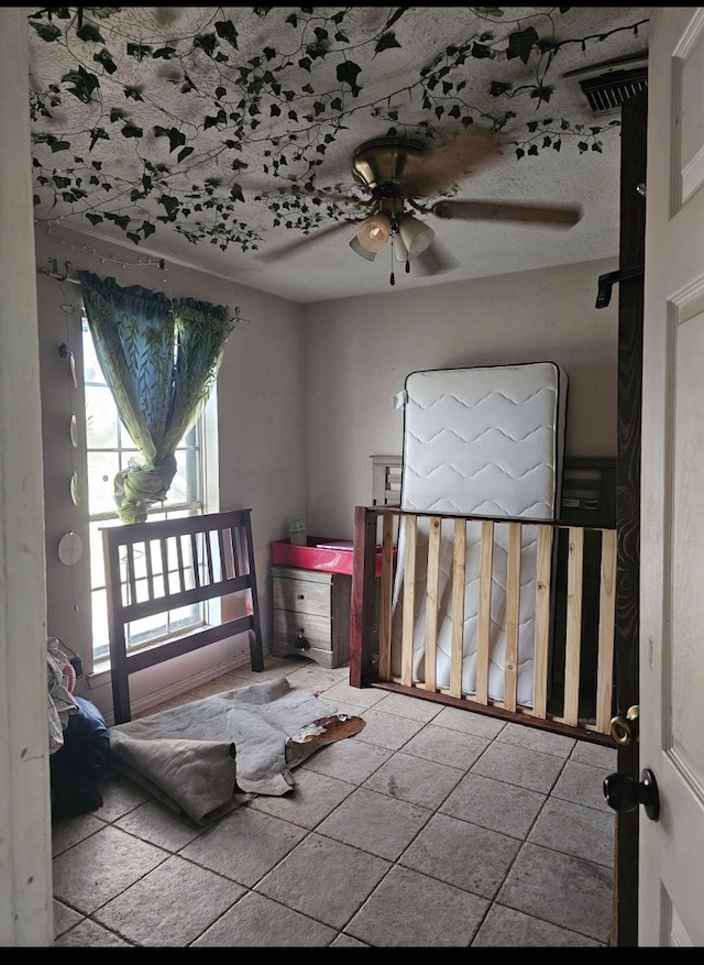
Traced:
<path fill-rule="evenodd" d="M 208 829 L 180 852 L 219 875 L 252 887 L 304 837 L 305 829 L 251 808 Z"/>

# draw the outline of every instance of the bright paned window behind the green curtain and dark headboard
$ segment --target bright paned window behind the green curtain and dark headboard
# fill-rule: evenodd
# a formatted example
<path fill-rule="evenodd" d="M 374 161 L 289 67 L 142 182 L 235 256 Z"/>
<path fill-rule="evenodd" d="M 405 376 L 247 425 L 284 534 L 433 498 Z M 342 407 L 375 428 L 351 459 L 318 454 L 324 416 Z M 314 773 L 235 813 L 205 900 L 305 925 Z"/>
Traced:
<path fill-rule="evenodd" d="M 88 459 L 88 514 L 90 529 L 90 586 L 92 607 L 94 666 L 109 657 L 106 577 L 101 529 L 121 526 L 116 515 L 113 479 L 130 459 L 139 457 L 136 446 L 118 417 L 98 362 L 88 320 L 82 318 L 84 384 L 86 393 L 86 446 Z M 176 450 L 178 470 L 168 498 L 150 509 L 150 517 L 174 518 L 206 512 L 206 426 L 215 405 L 215 390 L 206 413 Z M 202 625 L 202 604 L 167 615 L 160 614 L 128 628 L 128 650 L 139 649 L 174 634 Z"/>

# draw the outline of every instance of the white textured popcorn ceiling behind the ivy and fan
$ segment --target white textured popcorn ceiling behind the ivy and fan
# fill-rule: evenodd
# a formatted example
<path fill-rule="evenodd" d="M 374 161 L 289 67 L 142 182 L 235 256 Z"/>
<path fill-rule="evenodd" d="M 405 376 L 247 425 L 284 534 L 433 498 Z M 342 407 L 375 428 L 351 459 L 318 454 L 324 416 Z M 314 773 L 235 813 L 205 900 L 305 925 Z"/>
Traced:
<path fill-rule="evenodd" d="M 41 9 L 26 8 L 28 18 Z M 73 11 L 74 14 L 76 11 L 76 8 L 55 9 Z M 97 10 L 108 9 L 113 8 Z M 59 141 L 66 139 L 72 145 L 70 150 L 52 151 L 47 143 L 37 143 L 33 149 L 35 157 L 44 165 L 35 165 L 35 188 L 41 199 L 35 209 L 37 229 L 51 230 L 54 224 L 66 224 L 95 237 L 108 237 L 116 246 L 125 245 L 124 250 L 120 249 L 125 261 L 146 255 L 164 257 L 169 265 L 193 265 L 301 304 L 388 292 L 392 266 L 395 289 L 407 290 L 616 255 L 619 234 L 618 128 L 601 135 L 601 152 L 587 150 L 581 153 L 576 147 L 580 138 L 565 134 L 560 151 L 548 146 L 535 156 L 527 154 L 518 160 L 515 143 L 526 136 L 527 124 L 531 121 L 542 123 L 546 119 L 566 118 L 572 124 L 582 123 L 588 129 L 617 119 L 618 113 L 605 118 L 594 116 L 579 85 L 580 79 L 588 75 L 573 75 L 573 72 L 597 68 L 598 73 L 598 65 L 644 54 L 648 24 L 641 22 L 648 20 L 650 8 L 573 7 L 562 8 L 564 13 L 560 8 L 505 8 L 503 17 L 494 18 L 493 23 L 476 12 L 491 9 L 346 8 L 345 19 L 338 21 L 339 36 L 327 42 L 324 56 L 314 57 L 308 63 L 300 53 L 301 37 L 305 41 L 306 36 L 301 23 L 305 21 L 310 39 L 315 36 L 316 23 L 329 26 L 332 21 L 326 21 L 324 17 L 330 18 L 338 8 L 130 7 L 117 9 L 119 12 L 107 19 L 92 20 L 91 11 L 96 9 L 84 8 L 84 23 L 95 24 L 100 41 L 95 35 L 81 41 L 63 33 L 53 42 L 46 42 L 28 20 L 32 91 L 43 95 L 43 102 L 47 105 L 51 85 L 61 90 L 61 102 L 51 106 L 48 116 L 35 113 L 33 133 L 51 133 Z M 398 15 L 387 29 L 395 10 L 404 11 L 403 15 Z M 264 14 L 264 11 L 268 12 Z M 319 19 L 314 21 L 312 14 L 304 17 L 301 11 L 311 11 Z M 41 22 L 47 21 L 43 19 Z M 67 22 L 66 19 L 53 20 L 62 31 Z M 202 47 L 187 56 L 184 39 L 189 39 L 188 47 L 193 48 L 193 39 L 212 35 L 218 23 L 230 23 L 237 31 L 237 44 L 230 44 L 229 61 L 219 62 L 212 56 L 212 51 L 207 53 Z M 637 30 L 630 29 L 638 23 Z M 348 219 L 363 217 L 359 205 L 363 191 L 350 167 L 354 150 L 370 138 L 385 135 L 392 127 L 403 133 L 420 133 L 436 146 L 457 138 L 462 131 L 457 112 L 451 116 L 449 106 L 444 111 L 438 110 L 437 103 L 441 100 L 432 107 L 428 102 L 424 105 L 417 84 L 421 68 L 430 65 L 449 45 L 459 45 L 472 37 L 490 50 L 492 56 L 468 56 L 449 77 L 455 85 L 454 90 L 461 81 L 462 98 L 470 106 L 475 121 L 486 122 L 490 113 L 496 116 L 498 101 L 488 94 L 491 80 L 501 77 L 517 90 L 532 83 L 539 69 L 535 54 L 528 63 L 524 63 L 520 56 L 507 56 L 509 33 L 530 26 L 535 26 L 541 37 L 550 36 L 558 42 L 587 40 L 583 44 L 564 43 L 560 46 L 544 80 L 554 88 L 549 101 L 530 97 L 527 89 L 525 96 L 515 96 L 504 105 L 504 110 L 508 107 L 516 116 L 503 124 L 501 156 L 460 177 L 450 194 L 470 200 L 576 205 L 582 209 L 579 223 L 570 229 L 556 229 L 450 221 L 430 215 L 428 221 L 436 231 L 437 245 L 454 262 L 451 270 L 427 275 L 422 274 L 419 264 L 411 262 L 410 273 L 406 274 L 403 265 L 393 265 L 391 251 L 380 253 L 374 262 L 361 259 L 349 246 L 354 228 L 345 223 Z M 222 28 L 219 30 L 222 32 Z M 492 36 L 487 36 L 490 32 Z M 370 41 L 370 37 L 389 34 L 393 34 L 394 42 L 385 48 L 384 44 L 381 50 L 378 44 L 375 48 Z M 148 44 L 152 51 L 168 47 L 177 54 L 140 59 L 134 56 L 134 47 L 128 53 L 130 43 Z M 101 51 L 109 51 L 109 61 Z M 215 89 L 213 85 L 219 86 L 222 90 L 220 100 L 232 105 L 237 100 L 235 81 L 243 76 L 242 65 L 253 63 L 255 57 L 266 63 L 266 56 L 271 57 L 272 64 L 280 63 L 273 57 L 272 51 L 278 55 L 292 55 L 290 67 L 282 69 L 279 76 L 285 89 L 292 91 L 293 97 L 295 95 L 293 102 L 297 107 L 298 125 L 297 140 L 288 142 L 290 150 L 285 155 L 286 164 L 278 169 L 272 162 L 272 139 L 289 135 L 295 125 L 285 119 L 286 112 L 271 110 L 271 100 L 261 105 L 268 109 L 262 110 L 254 128 L 249 128 L 234 147 L 229 122 L 213 122 L 207 128 L 202 123 L 204 116 L 212 110 L 212 102 L 204 97 L 204 92 Z M 349 83 L 351 75 L 344 73 L 344 67 L 340 74 L 339 65 L 350 63 L 360 68 L 360 89 L 355 92 Z M 116 67 L 113 73 L 110 73 L 111 65 Z M 80 70 L 94 73 L 99 79 L 99 88 L 82 99 L 67 92 L 66 79 L 63 86 L 61 84 L 62 77 Z M 187 91 L 184 90 L 184 76 L 189 79 Z M 341 83 L 340 77 L 346 77 L 346 83 Z M 125 96 L 125 87 L 132 96 Z M 315 94 L 307 98 L 306 91 L 310 89 Z M 304 105 L 308 103 L 308 110 L 315 114 L 316 108 L 310 105 L 316 101 L 316 96 L 334 90 L 344 98 L 342 123 L 331 120 L 327 127 L 301 123 L 306 113 Z M 440 83 L 438 95 L 441 94 Z M 319 100 L 322 102 L 323 98 Z M 327 105 L 329 108 L 330 97 Z M 329 111 L 322 111 L 322 114 L 332 118 Z M 391 117 L 394 122 L 389 121 Z M 128 122 L 139 127 L 144 132 L 143 138 L 121 135 L 120 125 L 124 130 Z M 106 130 L 110 136 L 91 145 L 90 132 L 97 128 Z M 111 195 L 108 204 L 106 184 L 112 184 L 113 188 L 118 182 L 131 184 L 132 188 L 139 186 L 145 156 L 173 164 L 177 151 L 167 136 L 155 136 L 158 129 L 178 131 L 178 136 L 186 139 L 179 146 L 194 147 L 189 152 L 187 175 L 173 174 L 174 190 L 176 186 L 182 191 L 190 188 L 202 200 L 208 197 L 208 184 L 218 184 L 220 188 L 237 184 L 241 198 L 235 217 L 246 227 L 248 237 L 254 239 L 251 245 L 248 242 L 246 251 L 237 243 L 229 243 L 222 250 L 221 244 L 211 243 L 207 237 L 194 242 L 188 234 L 178 231 L 177 222 L 162 223 L 158 220 L 154 222 L 156 230 L 141 238 L 135 245 L 114 222 L 103 218 L 98 223 L 90 223 L 80 213 L 124 211 L 129 207 L 130 190 L 123 189 L 120 197 Z M 326 133 L 329 134 L 327 140 Z M 318 144 L 323 144 L 323 150 L 317 153 L 316 139 Z M 222 144 L 228 140 L 230 146 L 226 150 Z M 306 156 L 320 163 L 310 168 L 304 157 L 297 166 L 292 147 L 295 143 L 306 143 Z M 81 196 L 78 202 L 65 199 L 61 190 L 48 190 L 41 182 L 50 167 L 55 176 L 59 176 L 63 165 L 72 168 L 75 185 L 75 172 L 79 162 L 82 164 L 86 158 L 91 163 L 99 160 L 100 177 L 95 178 L 96 184 L 90 186 L 87 177 L 81 179 L 86 196 Z M 276 226 L 271 200 L 282 198 L 282 187 L 289 190 L 292 182 L 310 185 L 311 172 L 318 197 L 323 200 L 316 211 L 319 226 L 308 226 L 310 231 L 307 232 L 305 226 L 295 223 L 295 218 L 290 219 L 292 227 Z M 345 201 L 348 196 L 349 204 Z M 331 206 L 324 202 L 329 197 L 337 199 Z M 156 215 L 164 213 L 163 205 L 160 208 L 154 197 L 142 205 L 143 210 L 152 206 L 153 217 L 155 211 Z M 212 211 L 210 216 L 215 217 Z M 206 215 L 199 217 L 202 220 Z M 191 221 L 194 218 L 191 215 Z M 336 223 L 345 227 L 328 230 Z M 295 254 L 265 257 L 306 234 L 310 242 Z"/>

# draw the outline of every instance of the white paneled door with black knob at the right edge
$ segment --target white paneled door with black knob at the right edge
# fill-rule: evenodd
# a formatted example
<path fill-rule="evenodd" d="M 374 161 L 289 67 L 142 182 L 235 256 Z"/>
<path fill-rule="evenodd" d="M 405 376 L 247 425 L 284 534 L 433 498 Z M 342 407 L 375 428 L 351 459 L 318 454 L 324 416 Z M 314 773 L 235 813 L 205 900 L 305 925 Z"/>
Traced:
<path fill-rule="evenodd" d="M 653 8 L 642 384 L 641 946 L 704 945 L 704 8 Z"/>

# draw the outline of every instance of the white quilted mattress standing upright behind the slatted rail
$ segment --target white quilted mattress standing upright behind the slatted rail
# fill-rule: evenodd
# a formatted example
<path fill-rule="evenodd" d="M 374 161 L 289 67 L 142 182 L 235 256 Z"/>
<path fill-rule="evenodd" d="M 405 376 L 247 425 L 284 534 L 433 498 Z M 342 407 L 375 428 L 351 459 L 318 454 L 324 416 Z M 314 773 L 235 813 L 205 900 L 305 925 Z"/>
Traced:
<path fill-rule="evenodd" d="M 414 372 L 403 393 L 403 509 L 551 519 L 562 479 L 568 379 L 552 362 Z M 504 698 L 506 529 L 495 527 L 490 698 Z M 468 524 L 462 692 L 475 691 L 480 524 Z M 392 669 L 399 672 L 404 538 L 394 588 Z M 414 679 L 425 660 L 428 520 L 418 520 Z M 438 593 L 439 688 L 450 686 L 452 523 L 443 522 Z M 536 529 L 524 527 L 518 638 L 520 705 L 532 705 Z"/>

